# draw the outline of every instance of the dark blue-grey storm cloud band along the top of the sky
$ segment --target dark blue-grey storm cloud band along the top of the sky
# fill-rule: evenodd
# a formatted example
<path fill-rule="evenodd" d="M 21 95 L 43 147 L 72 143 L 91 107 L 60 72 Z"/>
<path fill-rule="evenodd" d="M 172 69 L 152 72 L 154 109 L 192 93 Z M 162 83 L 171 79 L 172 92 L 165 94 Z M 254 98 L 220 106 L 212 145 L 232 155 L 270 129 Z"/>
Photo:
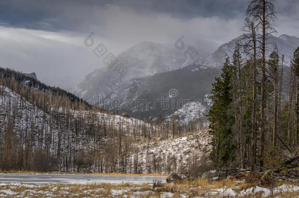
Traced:
<path fill-rule="evenodd" d="M 182 19 L 214 16 L 231 19 L 246 9 L 244 0 L 2 0 L 0 21 L 18 27 L 74 31 L 90 19 L 101 24 L 100 12 L 109 5 L 140 14 L 164 13 Z"/>

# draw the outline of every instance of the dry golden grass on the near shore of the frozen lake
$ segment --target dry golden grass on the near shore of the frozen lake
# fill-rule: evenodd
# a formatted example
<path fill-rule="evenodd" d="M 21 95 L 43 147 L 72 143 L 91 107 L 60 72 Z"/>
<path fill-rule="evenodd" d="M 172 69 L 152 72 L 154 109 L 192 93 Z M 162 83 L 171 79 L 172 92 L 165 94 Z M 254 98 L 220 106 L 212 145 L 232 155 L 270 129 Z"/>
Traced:
<path fill-rule="evenodd" d="M 208 181 L 204 179 L 196 179 L 192 181 L 182 181 L 179 183 L 159 183 L 153 189 L 152 184 L 110 184 L 110 183 L 89 183 L 89 184 L 0 184 L 0 197 L 4 197 L 2 193 L 12 191 L 13 195 L 8 197 L 100 197 L 100 198 L 122 198 L 122 197 L 138 197 L 138 198 L 159 198 L 164 193 L 172 193 L 173 198 L 180 198 L 181 195 L 187 197 L 223 197 L 217 189 L 232 188 L 236 193 L 241 190 L 248 189 L 251 184 L 237 182 L 236 179 L 224 179 L 220 181 Z M 145 193 L 144 193 L 145 192 Z M 260 198 L 262 192 L 250 195 L 245 198 Z M 298 198 L 299 192 L 277 193 L 269 198 Z"/>

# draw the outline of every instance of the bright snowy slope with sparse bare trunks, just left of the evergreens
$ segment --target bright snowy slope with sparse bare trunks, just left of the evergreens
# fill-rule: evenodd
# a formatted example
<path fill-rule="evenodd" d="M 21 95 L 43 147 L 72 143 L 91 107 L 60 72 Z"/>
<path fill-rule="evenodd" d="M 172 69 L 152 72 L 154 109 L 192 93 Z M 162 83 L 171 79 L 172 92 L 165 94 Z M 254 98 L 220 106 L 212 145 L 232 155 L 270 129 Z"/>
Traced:
<path fill-rule="evenodd" d="M 210 151 L 211 135 L 208 131 L 200 131 L 187 134 L 177 138 L 156 138 L 156 141 L 138 144 L 138 154 L 131 157 L 138 159 L 138 171 L 140 173 L 157 172 L 186 173 L 192 165 L 199 166 L 208 160 Z M 149 164 L 155 161 L 156 167 Z M 166 162 L 164 166 L 159 166 L 161 161 Z"/>

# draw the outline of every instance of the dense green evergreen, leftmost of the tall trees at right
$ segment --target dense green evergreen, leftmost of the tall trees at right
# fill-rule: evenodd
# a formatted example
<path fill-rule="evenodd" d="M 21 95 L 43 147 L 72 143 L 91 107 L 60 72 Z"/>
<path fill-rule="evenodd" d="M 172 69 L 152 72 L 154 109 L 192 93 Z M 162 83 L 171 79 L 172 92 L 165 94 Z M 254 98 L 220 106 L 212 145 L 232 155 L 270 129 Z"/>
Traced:
<path fill-rule="evenodd" d="M 211 159 L 217 168 L 227 166 L 235 156 L 236 145 L 232 133 L 234 117 L 232 105 L 231 66 L 226 59 L 222 74 L 215 79 L 211 91 L 212 107 L 208 113 L 210 132 L 213 135 Z"/>

